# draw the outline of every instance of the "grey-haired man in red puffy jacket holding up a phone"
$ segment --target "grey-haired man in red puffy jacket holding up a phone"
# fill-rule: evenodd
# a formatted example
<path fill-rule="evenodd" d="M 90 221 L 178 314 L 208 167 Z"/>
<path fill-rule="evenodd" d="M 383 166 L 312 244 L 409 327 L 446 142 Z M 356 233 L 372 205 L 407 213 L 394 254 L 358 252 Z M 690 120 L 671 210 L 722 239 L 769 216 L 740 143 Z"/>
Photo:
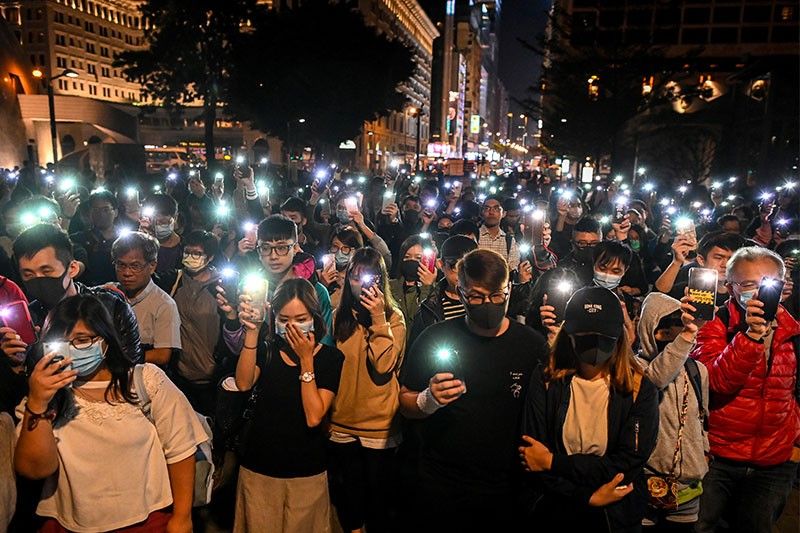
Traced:
<path fill-rule="evenodd" d="M 737 250 L 726 268 L 731 298 L 697 335 L 692 357 L 708 368 L 714 458 L 698 533 L 715 531 L 727 509 L 741 531 L 772 531 L 797 473 L 800 322 L 777 303 L 785 268 L 766 248 Z"/>

